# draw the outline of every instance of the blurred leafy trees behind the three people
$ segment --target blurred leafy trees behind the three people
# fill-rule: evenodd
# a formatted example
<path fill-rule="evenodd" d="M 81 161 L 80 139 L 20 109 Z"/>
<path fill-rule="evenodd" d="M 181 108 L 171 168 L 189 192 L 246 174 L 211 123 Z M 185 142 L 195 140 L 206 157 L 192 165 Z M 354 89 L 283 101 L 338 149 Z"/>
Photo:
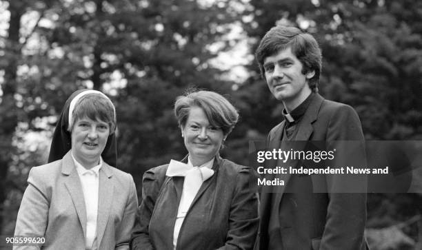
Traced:
<path fill-rule="evenodd" d="M 13 234 L 28 171 L 46 163 L 61 108 L 80 88 L 116 105 L 117 167 L 138 191 L 146 169 L 187 153 L 172 107 L 188 87 L 239 109 L 221 154 L 247 165 L 248 141 L 282 119 L 253 55 L 278 23 L 314 34 L 320 93 L 352 105 L 367 140 L 422 139 L 419 0 L 0 1 L 0 234 Z M 370 194 L 372 248 L 422 249 L 421 212 L 420 194 Z"/>

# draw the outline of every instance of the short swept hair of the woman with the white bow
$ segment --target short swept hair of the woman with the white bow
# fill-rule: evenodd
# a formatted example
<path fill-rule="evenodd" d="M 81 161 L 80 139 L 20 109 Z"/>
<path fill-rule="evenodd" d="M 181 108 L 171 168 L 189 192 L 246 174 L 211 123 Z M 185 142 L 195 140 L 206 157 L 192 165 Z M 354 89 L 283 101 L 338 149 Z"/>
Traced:
<path fill-rule="evenodd" d="M 174 115 L 180 127 L 184 127 L 192 107 L 201 107 L 210 125 L 219 127 L 224 135 L 230 134 L 239 120 L 239 112 L 224 96 L 212 91 L 191 91 L 178 96 L 174 103 Z"/>

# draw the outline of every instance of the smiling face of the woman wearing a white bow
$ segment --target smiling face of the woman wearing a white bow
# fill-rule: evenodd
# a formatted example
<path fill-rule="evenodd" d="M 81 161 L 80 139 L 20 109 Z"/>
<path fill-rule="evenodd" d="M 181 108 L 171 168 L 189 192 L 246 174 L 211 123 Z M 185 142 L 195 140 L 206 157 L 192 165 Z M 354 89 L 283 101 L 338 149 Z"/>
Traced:
<path fill-rule="evenodd" d="M 181 132 L 194 166 L 211 160 L 219 152 L 226 137 L 221 128 L 210 125 L 201 107 L 190 108 L 188 120 Z"/>

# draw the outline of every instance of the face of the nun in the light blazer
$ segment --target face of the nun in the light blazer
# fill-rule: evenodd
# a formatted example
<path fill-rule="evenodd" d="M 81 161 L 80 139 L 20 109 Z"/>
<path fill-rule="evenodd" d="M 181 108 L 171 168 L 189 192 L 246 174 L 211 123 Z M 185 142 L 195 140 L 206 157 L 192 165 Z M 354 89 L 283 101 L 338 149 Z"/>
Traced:
<path fill-rule="evenodd" d="M 99 164 L 106 147 L 110 126 L 104 121 L 84 117 L 77 119 L 72 128 L 72 154 L 87 169 Z"/>

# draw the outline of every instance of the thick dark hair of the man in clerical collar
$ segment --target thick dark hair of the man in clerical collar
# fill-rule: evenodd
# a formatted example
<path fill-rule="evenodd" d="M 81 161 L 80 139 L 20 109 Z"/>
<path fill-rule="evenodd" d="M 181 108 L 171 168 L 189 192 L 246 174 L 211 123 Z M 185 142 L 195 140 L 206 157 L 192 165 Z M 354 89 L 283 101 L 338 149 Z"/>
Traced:
<path fill-rule="evenodd" d="M 295 27 L 277 25 L 268 30 L 261 39 L 255 52 L 255 58 L 257 59 L 259 70 L 261 70 L 261 76 L 265 78 L 265 70 L 263 68 L 265 58 L 287 48 L 291 48 L 292 53 L 302 63 L 302 74 L 314 70 L 315 74 L 309 79 L 308 83 L 313 92 L 318 92 L 322 62 L 321 48 L 312 34 L 302 32 Z"/>

